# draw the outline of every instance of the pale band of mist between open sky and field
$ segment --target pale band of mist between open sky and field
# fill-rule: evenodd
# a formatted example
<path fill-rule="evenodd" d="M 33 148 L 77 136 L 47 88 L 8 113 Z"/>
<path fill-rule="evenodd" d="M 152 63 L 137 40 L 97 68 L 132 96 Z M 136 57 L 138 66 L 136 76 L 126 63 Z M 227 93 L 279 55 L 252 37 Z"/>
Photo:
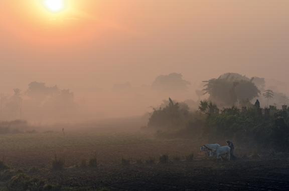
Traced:
<path fill-rule="evenodd" d="M 238 80 L 239 77 L 234 79 L 235 75 L 239 75 L 234 73 L 222 75 L 232 75 L 232 81 Z M 218 77 L 215 75 L 211 78 Z M 247 76 L 243 78 L 250 80 Z M 263 106 L 266 105 L 262 93 L 265 89 L 272 89 L 277 93 L 270 100 L 272 105 L 280 108 L 282 104 L 288 103 L 287 87 L 284 82 L 261 77 L 253 78 L 253 83 L 259 92 L 251 96 L 249 101 L 253 103 L 258 98 Z M 158 75 L 147 84 L 115 83 L 90 91 L 73 91 L 70 87 L 59 87 L 58 84 L 32 81 L 23 88 L 16 86 L 11 87 L 9 91 L 1 92 L 0 118 L 2 120 L 23 119 L 36 124 L 91 122 L 129 117 L 148 119 L 153 109 L 161 106 L 169 97 L 177 102 L 185 102 L 190 110 L 194 111 L 198 110 L 200 100 L 212 99 L 204 90 L 205 80 L 209 79 L 193 84 L 181 73 L 173 72 Z M 248 90 L 241 89 L 241 91 Z M 223 107 L 239 105 L 242 99 L 244 98 L 228 104 L 222 103 L 221 100 L 212 100 Z"/>

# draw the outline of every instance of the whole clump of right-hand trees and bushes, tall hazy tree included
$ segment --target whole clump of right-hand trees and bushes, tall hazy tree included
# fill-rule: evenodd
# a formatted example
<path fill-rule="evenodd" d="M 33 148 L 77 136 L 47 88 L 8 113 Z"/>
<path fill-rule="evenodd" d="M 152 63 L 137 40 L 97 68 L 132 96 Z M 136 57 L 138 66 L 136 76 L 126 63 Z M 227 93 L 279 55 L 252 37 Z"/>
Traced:
<path fill-rule="evenodd" d="M 154 108 L 148 126 L 158 129 L 160 135 L 172 137 L 232 139 L 255 146 L 289 149 L 288 99 L 284 94 L 265 89 L 263 78 L 227 73 L 205 81 L 202 91 L 209 97 L 200 101 L 197 110 L 190 110 L 185 102 L 169 98 L 165 104 Z M 280 107 L 271 100 L 274 96 L 281 97 Z M 260 106 L 256 99 L 266 101 Z"/>

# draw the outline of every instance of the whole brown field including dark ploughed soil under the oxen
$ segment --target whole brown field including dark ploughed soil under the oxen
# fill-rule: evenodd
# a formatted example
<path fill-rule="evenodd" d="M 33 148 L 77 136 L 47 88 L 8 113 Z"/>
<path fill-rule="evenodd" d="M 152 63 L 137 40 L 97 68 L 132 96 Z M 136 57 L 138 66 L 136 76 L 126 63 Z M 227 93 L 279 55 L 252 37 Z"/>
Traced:
<path fill-rule="evenodd" d="M 117 135 L 112 140 L 111 136 L 77 134 L 65 139 L 57 134 L 0 138 L 0 151 L 11 168 L 59 184 L 64 190 L 289 190 L 286 153 L 216 161 L 199 153 L 200 140 L 156 140 L 136 135 Z M 80 167 L 81 160 L 89 159 L 95 150 L 98 166 Z M 192 152 L 195 159 L 186 160 Z M 54 154 L 65 156 L 64 169 L 52 169 Z M 168 154 L 170 161 L 159 163 L 161 154 Z M 173 159 L 176 155 L 180 160 Z M 131 164 L 121 164 L 122 157 Z M 136 160 L 151 157 L 155 164 L 136 164 Z M 6 184 L 1 180 L 0 190 L 7 190 Z"/>

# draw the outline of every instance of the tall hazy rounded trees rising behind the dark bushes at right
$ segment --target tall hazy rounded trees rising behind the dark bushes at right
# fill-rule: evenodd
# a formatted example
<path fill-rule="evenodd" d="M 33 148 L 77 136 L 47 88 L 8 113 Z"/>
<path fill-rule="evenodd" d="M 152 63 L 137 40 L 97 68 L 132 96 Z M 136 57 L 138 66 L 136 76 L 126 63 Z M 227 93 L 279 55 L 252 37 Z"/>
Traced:
<path fill-rule="evenodd" d="M 268 97 L 264 93 L 274 86 L 267 87 L 266 80 L 261 77 L 248 78 L 238 73 L 225 73 L 218 78 L 203 81 L 203 94 L 209 95 L 209 100 L 219 107 L 232 105 L 249 106 L 254 99 L 259 99 L 262 104 L 269 105 Z M 274 90 L 274 96 L 270 97 L 271 104 L 281 107 L 289 103 L 289 98 L 282 92 Z"/>

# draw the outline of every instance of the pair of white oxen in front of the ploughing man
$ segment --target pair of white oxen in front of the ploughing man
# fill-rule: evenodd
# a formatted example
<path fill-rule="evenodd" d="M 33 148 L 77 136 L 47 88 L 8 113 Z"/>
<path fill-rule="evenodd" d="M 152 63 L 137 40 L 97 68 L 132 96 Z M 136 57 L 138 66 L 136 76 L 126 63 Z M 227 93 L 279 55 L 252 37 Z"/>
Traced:
<path fill-rule="evenodd" d="M 229 146 L 221 146 L 220 144 L 205 144 L 201 146 L 201 151 L 207 152 L 209 156 L 212 156 L 213 153 L 216 153 L 217 159 L 226 155 L 226 158 L 230 160 L 230 151 Z"/>

